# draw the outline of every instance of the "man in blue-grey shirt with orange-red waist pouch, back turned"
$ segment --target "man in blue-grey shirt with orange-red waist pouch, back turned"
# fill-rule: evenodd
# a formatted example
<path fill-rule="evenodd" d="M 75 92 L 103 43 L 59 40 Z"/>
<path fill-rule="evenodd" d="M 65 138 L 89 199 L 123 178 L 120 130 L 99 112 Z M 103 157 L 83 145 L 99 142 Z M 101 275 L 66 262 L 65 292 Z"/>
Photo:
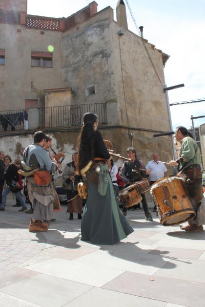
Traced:
<path fill-rule="evenodd" d="M 24 176 L 32 202 L 33 217 L 29 225 L 29 231 L 47 231 L 49 221 L 53 219 L 54 193 L 51 191 L 51 171 L 56 171 L 56 164 L 50 159 L 44 149 L 46 134 L 37 131 L 34 134 L 34 143 L 24 150 L 22 166 Z"/>

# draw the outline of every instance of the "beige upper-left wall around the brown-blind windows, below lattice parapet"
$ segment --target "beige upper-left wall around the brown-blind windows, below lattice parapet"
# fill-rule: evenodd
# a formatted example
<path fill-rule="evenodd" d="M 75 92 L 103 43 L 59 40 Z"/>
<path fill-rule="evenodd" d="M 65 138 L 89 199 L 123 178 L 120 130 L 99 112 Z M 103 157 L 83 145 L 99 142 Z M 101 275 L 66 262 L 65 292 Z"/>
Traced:
<path fill-rule="evenodd" d="M 0 49 L 6 50 L 5 65 L 0 65 L 1 111 L 23 109 L 25 99 L 38 98 L 34 88 L 62 87 L 60 40 L 61 32 L 41 35 L 40 30 L 0 24 Z M 31 67 L 31 51 L 48 51 L 49 45 L 54 47 L 53 68 Z"/>

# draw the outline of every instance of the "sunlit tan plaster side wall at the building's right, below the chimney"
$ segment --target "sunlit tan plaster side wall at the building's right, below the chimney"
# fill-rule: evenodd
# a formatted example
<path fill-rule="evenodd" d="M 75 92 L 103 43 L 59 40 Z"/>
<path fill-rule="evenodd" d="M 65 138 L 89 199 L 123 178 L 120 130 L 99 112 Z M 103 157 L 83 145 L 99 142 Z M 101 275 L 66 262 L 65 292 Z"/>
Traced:
<path fill-rule="evenodd" d="M 129 126 L 157 130 L 169 130 L 165 93 L 154 72 L 141 38 L 125 30 L 118 35 L 119 25 L 114 21 L 110 27 L 114 45 L 114 71 L 117 83 L 119 122 Z M 161 53 L 149 43 L 146 46 L 152 61 L 165 84 Z M 123 79 L 122 79 L 123 74 Z"/>

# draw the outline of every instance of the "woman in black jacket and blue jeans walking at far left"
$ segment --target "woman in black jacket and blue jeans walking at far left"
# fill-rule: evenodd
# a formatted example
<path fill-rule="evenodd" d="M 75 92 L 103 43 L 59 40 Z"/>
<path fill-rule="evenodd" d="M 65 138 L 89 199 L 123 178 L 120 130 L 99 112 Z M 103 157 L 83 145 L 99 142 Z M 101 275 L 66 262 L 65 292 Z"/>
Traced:
<path fill-rule="evenodd" d="M 4 191 L 2 193 L 2 203 L 0 205 L 0 211 L 5 211 L 6 197 L 10 192 L 14 193 L 16 199 L 22 205 L 22 209 L 18 211 L 25 211 L 27 210 L 27 207 L 25 200 L 23 199 L 22 195 L 20 195 L 19 176 L 17 173 L 18 169 L 13 163 L 11 163 L 11 157 L 8 155 L 4 157 L 4 163 L 6 164 L 4 171 L 6 183 L 4 184 Z"/>

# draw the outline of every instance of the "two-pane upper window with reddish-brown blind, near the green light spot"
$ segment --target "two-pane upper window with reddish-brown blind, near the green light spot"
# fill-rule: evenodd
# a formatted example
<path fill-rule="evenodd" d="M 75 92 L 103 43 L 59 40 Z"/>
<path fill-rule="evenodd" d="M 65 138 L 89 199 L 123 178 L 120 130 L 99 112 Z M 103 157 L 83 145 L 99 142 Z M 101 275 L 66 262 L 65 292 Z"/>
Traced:
<path fill-rule="evenodd" d="M 52 52 L 31 52 L 31 66 L 33 67 L 53 67 Z"/>

